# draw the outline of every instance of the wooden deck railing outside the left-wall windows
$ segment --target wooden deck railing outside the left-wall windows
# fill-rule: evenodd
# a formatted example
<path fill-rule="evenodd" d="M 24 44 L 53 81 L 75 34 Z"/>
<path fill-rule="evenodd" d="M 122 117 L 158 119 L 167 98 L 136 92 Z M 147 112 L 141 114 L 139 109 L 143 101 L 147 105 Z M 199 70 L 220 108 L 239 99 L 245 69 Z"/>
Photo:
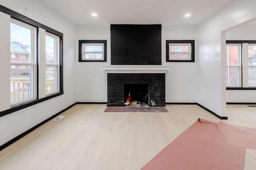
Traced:
<path fill-rule="evenodd" d="M 30 98 L 30 79 L 11 78 L 11 103 L 20 102 Z M 54 91 L 54 79 L 46 79 L 46 94 Z"/>

